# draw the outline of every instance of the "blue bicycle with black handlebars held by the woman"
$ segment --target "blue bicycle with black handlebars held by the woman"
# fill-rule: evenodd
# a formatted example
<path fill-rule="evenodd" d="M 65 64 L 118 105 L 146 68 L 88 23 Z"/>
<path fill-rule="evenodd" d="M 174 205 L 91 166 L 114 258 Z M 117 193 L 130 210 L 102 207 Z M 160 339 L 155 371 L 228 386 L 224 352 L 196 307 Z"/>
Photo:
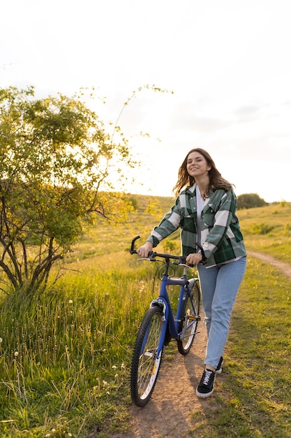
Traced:
<path fill-rule="evenodd" d="M 140 236 L 135 236 L 131 242 L 130 254 L 137 254 L 134 246 Z M 203 248 L 196 243 L 202 253 Z M 158 257 L 158 260 L 157 258 Z M 139 407 L 144 407 L 154 391 L 158 372 L 161 367 L 164 348 L 170 341 L 176 340 L 179 353 L 186 355 L 193 344 L 197 334 L 197 323 L 200 320 L 200 285 L 198 278 L 187 279 L 190 268 L 186 264 L 186 257 L 150 251 L 148 260 L 157 262 L 161 259 L 164 265 L 161 278 L 159 295 L 153 299 L 149 310 L 144 315 L 140 328 L 137 331 L 130 369 L 130 395 L 131 400 Z M 172 261 L 173 260 L 173 261 Z M 169 267 L 171 264 L 184 268 L 181 278 L 171 277 Z M 180 286 L 177 314 L 174 316 L 167 292 L 168 285 Z"/>

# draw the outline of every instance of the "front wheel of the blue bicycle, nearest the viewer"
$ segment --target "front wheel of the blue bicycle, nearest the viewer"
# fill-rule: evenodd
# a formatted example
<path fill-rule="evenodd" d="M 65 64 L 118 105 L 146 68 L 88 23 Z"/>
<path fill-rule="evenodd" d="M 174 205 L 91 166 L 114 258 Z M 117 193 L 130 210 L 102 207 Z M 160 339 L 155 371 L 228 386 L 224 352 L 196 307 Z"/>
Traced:
<path fill-rule="evenodd" d="M 156 352 L 163 323 L 163 309 L 154 306 L 145 314 L 137 332 L 130 370 L 130 395 L 133 403 L 139 407 L 144 407 L 149 402 L 158 379 L 165 346 L 163 345 L 158 358 Z"/>

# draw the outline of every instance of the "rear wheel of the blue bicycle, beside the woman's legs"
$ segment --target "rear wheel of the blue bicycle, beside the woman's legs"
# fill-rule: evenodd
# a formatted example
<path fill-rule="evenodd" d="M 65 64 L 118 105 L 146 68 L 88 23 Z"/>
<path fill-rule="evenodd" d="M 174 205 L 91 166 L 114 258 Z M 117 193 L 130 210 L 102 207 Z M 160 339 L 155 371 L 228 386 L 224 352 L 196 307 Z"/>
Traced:
<path fill-rule="evenodd" d="M 191 304 L 190 296 L 187 292 L 185 292 L 185 302 L 184 306 L 181 311 L 181 315 L 183 315 L 183 319 L 181 320 L 181 323 L 179 324 L 179 332 L 182 332 L 184 330 L 184 325 L 188 324 L 186 315 L 188 315 L 188 321 L 191 320 L 191 318 L 196 318 L 199 316 L 199 309 L 200 309 L 200 288 L 197 284 L 197 281 L 194 281 L 193 286 L 190 290 L 191 297 L 193 300 L 193 306 L 195 309 L 195 314 L 193 314 L 193 306 Z M 193 324 L 188 327 L 185 331 L 184 339 L 177 339 L 177 346 L 178 351 L 181 353 L 181 355 L 186 355 L 191 350 L 195 334 L 197 332 L 197 324 L 198 319 L 194 320 Z"/>

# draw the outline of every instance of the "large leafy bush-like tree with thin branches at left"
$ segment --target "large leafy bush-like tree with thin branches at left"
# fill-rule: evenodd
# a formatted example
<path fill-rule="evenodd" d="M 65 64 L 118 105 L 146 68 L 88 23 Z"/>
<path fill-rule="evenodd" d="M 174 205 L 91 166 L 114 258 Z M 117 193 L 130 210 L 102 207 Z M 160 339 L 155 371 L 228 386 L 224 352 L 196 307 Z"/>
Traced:
<path fill-rule="evenodd" d="M 35 99 L 33 87 L 0 89 L 3 290 L 7 283 L 28 293 L 44 288 L 85 222 L 124 220 L 132 206 L 112 181 L 122 182 L 122 164 L 137 163 L 120 138 L 113 143 L 81 97 Z"/>

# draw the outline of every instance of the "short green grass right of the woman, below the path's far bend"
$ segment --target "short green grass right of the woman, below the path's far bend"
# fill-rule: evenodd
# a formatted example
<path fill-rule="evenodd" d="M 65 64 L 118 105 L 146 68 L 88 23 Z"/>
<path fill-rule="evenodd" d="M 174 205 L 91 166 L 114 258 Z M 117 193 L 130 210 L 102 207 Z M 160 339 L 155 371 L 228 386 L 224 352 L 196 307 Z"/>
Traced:
<path fill-rule="evenodd" d="M 288 281 L 250 258 L 232 314 L 223 377 L 204 412 L 192 414 L 198 436 L 291 437 Z"/>

